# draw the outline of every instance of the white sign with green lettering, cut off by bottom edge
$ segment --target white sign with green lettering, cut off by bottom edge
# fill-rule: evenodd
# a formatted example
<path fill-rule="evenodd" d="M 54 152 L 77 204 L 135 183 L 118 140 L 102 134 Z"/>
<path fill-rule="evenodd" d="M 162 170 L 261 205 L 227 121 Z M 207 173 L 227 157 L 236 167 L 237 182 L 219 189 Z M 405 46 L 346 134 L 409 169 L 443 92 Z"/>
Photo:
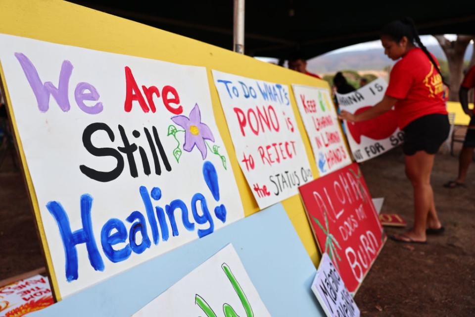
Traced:
<path fill-rule="evenodd" d="M 228 244 L 133 316 L 271 315 L 233 245 Z"/>

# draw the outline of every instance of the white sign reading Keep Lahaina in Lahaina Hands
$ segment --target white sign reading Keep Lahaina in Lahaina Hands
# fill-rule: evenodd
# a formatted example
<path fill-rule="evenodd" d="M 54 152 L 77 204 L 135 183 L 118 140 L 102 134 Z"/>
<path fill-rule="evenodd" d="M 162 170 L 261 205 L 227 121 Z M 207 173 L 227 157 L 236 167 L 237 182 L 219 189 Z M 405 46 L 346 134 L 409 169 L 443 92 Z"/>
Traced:
<path fill-rule="evenodd" d="M 328 89 L 292 85 L 321 176 L 351 164 Z"/>

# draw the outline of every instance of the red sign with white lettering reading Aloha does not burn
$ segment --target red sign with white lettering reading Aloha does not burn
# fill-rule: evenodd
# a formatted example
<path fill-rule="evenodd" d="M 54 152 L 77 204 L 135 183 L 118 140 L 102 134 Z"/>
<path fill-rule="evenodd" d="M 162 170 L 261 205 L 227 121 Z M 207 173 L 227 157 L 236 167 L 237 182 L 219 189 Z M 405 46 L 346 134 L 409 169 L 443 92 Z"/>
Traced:
<path fill-rule="evenodd" d="M 317 244 L 355 293 L 386 241 L 357 163 L 299 187 Z"/>

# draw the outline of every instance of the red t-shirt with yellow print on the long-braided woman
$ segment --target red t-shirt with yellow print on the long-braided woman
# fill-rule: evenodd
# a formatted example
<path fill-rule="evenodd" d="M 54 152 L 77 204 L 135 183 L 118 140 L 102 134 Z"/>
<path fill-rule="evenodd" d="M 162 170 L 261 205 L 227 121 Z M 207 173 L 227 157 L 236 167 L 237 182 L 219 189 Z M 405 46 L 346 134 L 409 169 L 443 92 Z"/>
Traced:
<path fill-rule="evenodd" d="M 437 62 L 437 59 L 432 55 Z M 438 66 L 438 63 L 437 63 Z M 400 129 L 427 114 L 447 114 L 442 76 L 426 53 L 414 48 L 392 68 L 386 96 L 396 98 L 394 106 Z"/>

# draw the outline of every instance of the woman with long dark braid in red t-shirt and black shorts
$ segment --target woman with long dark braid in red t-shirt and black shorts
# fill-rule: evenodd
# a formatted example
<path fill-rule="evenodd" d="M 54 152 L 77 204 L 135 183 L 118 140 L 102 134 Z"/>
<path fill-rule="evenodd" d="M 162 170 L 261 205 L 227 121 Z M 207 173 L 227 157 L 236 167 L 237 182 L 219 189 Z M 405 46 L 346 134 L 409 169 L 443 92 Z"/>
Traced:
<path fill-rule="evenodd" d="M 450 128 L 442 75 L 436 59 L 421 43 L 411 19 L 386 25 L 381 32 L 381 43 L 389 58 L 399 59 L 391 70 L 384 98 L 357 115 L 343 110 L 340 118 L 364 121 L 394 106 L 399 128 L 405 132 L 403 152 L 406 175 L 414 188 L 414 227 L 391 238 L 398 242 L 426 243 L 426 234 L 444 230 L 435 211 L 430 185 L 435 153 L 447 139 Z"/>

